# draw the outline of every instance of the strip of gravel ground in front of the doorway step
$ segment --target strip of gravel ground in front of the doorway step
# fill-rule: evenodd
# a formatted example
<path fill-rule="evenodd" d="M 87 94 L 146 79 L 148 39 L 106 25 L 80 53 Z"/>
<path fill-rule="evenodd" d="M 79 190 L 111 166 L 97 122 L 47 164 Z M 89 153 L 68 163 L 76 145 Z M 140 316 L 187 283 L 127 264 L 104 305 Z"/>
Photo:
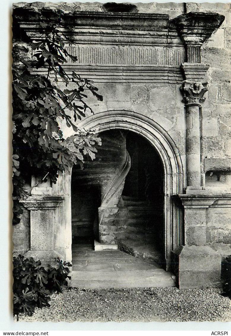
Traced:
<path fill-rule="evenodd" d="M 231 300 L 219 289 L 132 288 L 65 290 L 49 308 L 18 321 L 231 321 Z"/>

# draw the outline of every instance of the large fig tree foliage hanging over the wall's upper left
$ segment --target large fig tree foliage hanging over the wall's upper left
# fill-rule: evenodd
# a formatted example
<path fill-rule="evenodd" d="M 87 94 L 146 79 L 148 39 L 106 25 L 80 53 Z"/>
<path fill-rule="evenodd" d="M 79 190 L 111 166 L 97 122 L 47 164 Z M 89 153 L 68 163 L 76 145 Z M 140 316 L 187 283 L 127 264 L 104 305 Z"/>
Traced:
<path fill-rule="evenodd" d="M 27 195 L 25 183 L 30 184 L 32 175 L 56 183 L 59 172 L 69 172 L 74 164 L 82 167 L 84 156 L 93 160 L 95 144 L 101 144 L 95 132 L 78 129 L 76 121 L 87 111 L 93 113 L 84 100 L 88 92 L 98 100 L 103 97 L 92 81 L 64 69 L 67 57 L 76 60 L 65 48 L 71 41 L 64 26 L 40 25 L 41 38 L 33 43 L 13 40 L 13 194 L 20 197 Z M 65 138 L 60 123 L 75 134 Z"/>

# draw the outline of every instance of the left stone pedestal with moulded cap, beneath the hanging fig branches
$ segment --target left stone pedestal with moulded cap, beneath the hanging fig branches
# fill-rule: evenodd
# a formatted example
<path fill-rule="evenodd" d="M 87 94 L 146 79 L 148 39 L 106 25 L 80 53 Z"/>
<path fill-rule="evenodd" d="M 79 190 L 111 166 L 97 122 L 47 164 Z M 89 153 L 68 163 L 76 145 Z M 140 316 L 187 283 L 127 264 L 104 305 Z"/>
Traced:
<path fill-rule="evenodd" d="M 55 257 L 62 257 L 54 250 L 54 210 L 60 205 L 60 196 L 29 196 L 21 203 L 30 210 L 31 249 L 25 255 L 52 263 Z"/>

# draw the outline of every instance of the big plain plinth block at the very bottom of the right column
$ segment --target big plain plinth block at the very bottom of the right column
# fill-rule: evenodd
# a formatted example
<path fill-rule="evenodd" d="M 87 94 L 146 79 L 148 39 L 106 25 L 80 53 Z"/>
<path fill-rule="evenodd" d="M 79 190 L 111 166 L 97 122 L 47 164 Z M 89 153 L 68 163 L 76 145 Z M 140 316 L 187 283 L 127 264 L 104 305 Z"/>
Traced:
<path fill-rule="evenodd" d="M 180 289 L 221 287 L 221 254 L 210 246 L 178 246 L 173 259 Z"/>

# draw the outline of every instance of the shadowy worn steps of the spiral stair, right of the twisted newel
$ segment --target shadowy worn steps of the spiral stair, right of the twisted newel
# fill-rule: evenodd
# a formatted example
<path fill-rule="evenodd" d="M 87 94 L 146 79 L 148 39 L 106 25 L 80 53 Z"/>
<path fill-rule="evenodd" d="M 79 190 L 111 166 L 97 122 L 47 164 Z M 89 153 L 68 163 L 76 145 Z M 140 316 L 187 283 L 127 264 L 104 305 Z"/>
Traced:
<path fill-rule="evenodd" d="M 117 225 L 120 227 L 117 235 L 119 249 L 164 265 L 163 232 L 158 227 L 160 223 L 163 223 L 161 209 L 156 209 L 147 200 L 122 196 L 117 217 Z"/>

